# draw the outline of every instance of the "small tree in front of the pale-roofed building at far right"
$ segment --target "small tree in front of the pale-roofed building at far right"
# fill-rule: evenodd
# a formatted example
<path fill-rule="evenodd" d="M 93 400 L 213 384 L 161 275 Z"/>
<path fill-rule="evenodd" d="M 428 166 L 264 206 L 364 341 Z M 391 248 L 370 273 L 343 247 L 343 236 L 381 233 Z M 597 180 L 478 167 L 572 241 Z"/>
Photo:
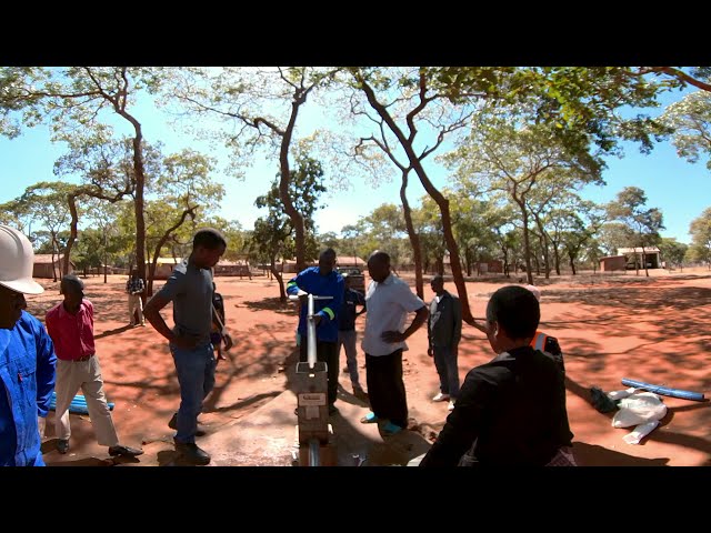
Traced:
<path fill-rule="evenodd" d="M 660 230 L 664 229 L 662 213 L 657 208 L 644 209 L 647 194 L 638 187 L 625 187 L 618 192 L 617 199 L 608 205 L 608 213 L 613 220 L 618 220 L 628 227 L 633 237 L 632 245 L 634 250 L 634 263 L 637 261 L 637 248 L 642 249 L 642 263 L 644 273 L 649 276 L 647 269 L 645 247 L 651 247 L 659 242 Z M 635 269 L 639 275 L 639 266 Z"/>

